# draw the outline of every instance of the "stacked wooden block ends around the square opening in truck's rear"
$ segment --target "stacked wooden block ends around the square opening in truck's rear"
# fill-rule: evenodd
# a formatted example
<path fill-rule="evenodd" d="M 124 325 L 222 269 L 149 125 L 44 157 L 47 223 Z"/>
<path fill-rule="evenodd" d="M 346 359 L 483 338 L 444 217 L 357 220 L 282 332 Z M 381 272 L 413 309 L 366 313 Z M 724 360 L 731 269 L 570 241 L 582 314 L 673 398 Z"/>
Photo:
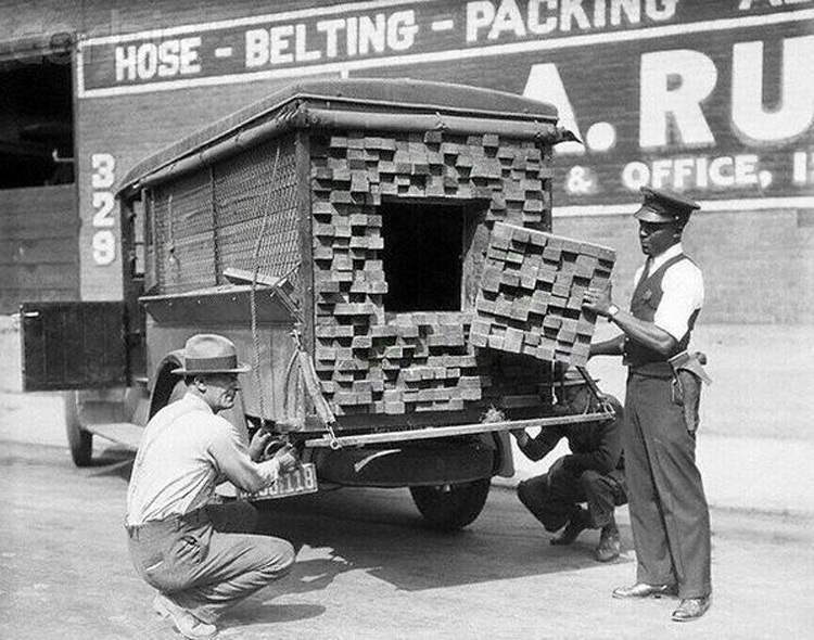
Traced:
<path fill-rule="evenodd" d="M 311 139 L 315 360 L 338 415 L 458 411 L 504 396 L 539 402 L 538 371 L 511 366 L 517 376 L 508 386 L 493 381 L 492 370 L 499 376 L 503 369 L 467 342 L 473 311 L 385 321 L 379 207 L 382 196 L 480 200 L 485 222 L 540 226 L 550 207 L 547 159 L 531 141 L 489 135 Z M 486 239 L 474 242 L 485 251 Z"/>

